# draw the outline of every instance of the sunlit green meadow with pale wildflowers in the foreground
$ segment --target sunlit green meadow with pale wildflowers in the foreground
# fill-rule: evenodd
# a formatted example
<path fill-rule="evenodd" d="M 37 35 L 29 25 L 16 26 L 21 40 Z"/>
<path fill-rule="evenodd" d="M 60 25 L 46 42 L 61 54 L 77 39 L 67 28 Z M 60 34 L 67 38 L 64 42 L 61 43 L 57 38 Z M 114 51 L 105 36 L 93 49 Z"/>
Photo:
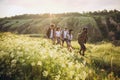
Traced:
<path fill-rule="evenodd" d="M 0 80 L 120 80 L 120 47 L 87 43 L 85 57 L 51 40 L 0 33 Z"/>

